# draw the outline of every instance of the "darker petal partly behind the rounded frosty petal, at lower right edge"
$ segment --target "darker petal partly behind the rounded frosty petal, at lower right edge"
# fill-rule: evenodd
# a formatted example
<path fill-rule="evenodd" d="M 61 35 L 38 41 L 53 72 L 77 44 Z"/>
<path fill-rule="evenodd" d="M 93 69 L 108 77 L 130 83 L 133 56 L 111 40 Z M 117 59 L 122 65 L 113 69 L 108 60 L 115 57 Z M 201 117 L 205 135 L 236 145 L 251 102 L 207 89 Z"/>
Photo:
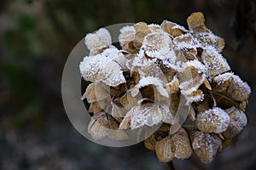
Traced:
<path fill-rule="evenodd" d="M 231 139 L 237 134 L 241 133 L 243 127 L 247 125 L 247 116 L 242 112 L 236 109 L 236 107 L 231 107 L 225 110 L 230 116 L 230 126 L 223 135 L 225 139 Z"/>

